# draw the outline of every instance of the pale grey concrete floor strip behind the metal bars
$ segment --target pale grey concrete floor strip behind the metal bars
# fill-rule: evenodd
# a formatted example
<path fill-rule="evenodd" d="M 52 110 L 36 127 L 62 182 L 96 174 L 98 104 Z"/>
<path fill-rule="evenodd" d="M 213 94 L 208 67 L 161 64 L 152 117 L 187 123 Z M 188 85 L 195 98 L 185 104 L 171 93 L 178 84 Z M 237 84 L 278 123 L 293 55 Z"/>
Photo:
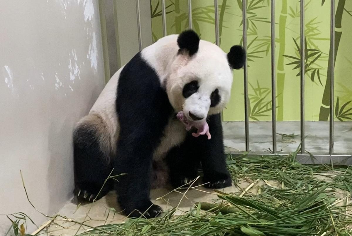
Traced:
<path fill-rule="evenodd" d="M 268 151 L 272 148 L 271 122 L 250 122 L 250 150 Z M 300 122 L 277 122 L 277 151 L 295 151 L 301 142 Z M 245 150 L 245 123 L 224 122 L 224 144 L 233 151 Z M 312 154 L 329 152 L 329 122 L 305 122 L 305 149 Z M 280 135 L 281 134 L 281 135 Z M 334 152 L 352 153 L 352 122 L 334 122 Z"/>

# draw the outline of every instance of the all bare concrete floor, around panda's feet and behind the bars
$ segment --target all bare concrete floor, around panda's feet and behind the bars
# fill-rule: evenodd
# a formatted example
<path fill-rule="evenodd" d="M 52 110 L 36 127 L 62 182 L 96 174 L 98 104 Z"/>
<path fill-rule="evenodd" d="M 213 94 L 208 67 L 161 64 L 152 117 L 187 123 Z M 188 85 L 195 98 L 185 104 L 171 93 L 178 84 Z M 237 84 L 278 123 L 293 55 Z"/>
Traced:
<path fill-rule="evenodd" d="M 250 149 L 252 151 L 264 152 L 271 148 L 271 122 L 250 122 Z M 352 122 L 336 122 L 334 126 L 334 148 L 335 152 L 351 153 L 352 141 Z M 244 122 L 225 122 L 224 123 L 224 143 L 227 150 L 243 151 L 245 150 L 244 141 Z M 278 122 L 277 123 L 277 149 L 283 151 L 294 151 L 300 143 L 300 123 L 299 122 Z M 285 135 L 293 134 L 290 136 Z M 306 122 L 306 150 L 311 153 L 326 153 L 329 147 L 329 123 L 328 122 Z M 262 181 L 263 182 L 263 181 Z M 239 187 L 229 187 L 222 191 L 238 193 L 251 185 L 252 183 L 240 180 Z M 262 183 L 263 184 L 263 183 Z M 275 182 L 273 183 L 275 185 Z M 277 184 L 277 183 L 276 183 Z M 260 183 L 251 188 L 251 192 L 256 189 Z M 196 201 L 214 201 L 216 194 L 211 190 L 203 187 L 190 189 L 186 194 L 180 191 L 170 192 L 166 189 L 153 190 L 151 193 L 152 202 L 160 205 L 164 210 L 178 206 L 178 214 L 182 211 L 188 211 L 194 206 Z M 54 221 L 48 223 L 44 231 L 47 235 L 64 236 L 75 235 L 76 232 L 86 230 L 86 226 L 81 226 L 76 222 L 84 222 L 90 226 L 97 226 L 108 223 L 121 223 L 126 220 L 125 216 L 120 215 L 119 206 L 116 203 L 116 195 L 111 192 L 99 201 L 81 205 L 77 208 L 74 200 L 68 202 L 60 211 L 59 215 L 69 218 L 57 217 Z M 115 213 L 115 214 L 114 214 Z M 49 233 L 50 232 L 50 233 Z M 45 234 L 43 234 L 45 235 Z"/>

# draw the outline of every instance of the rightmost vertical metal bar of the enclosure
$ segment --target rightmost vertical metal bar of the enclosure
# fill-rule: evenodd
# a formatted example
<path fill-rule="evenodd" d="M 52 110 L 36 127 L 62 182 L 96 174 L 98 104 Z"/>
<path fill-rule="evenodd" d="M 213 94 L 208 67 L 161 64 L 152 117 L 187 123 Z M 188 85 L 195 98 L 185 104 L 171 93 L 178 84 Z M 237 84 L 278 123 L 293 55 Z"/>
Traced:
<path fill-rule="evenodd" d="M 334 153 L 334 67 L 335 67 L 335 1 L 331 0 L 330 6 L 330 130 L 329 153 Z"/>

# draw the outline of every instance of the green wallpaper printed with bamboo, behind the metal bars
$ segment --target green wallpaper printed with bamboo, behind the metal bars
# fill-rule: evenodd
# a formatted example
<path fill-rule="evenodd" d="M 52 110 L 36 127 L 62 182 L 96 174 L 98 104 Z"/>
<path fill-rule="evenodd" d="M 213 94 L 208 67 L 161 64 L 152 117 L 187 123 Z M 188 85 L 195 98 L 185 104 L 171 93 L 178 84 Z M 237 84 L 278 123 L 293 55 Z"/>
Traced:
<path fill-rule="evenodd" d="M 188 28 L 186 0 L 166 0 L 167 33 Z M 219 0 L 220 46 L 242 44 L 242 0 Z M 335 0 L 334 105 L 337 121 L 352 120 L 352 1 Z M 163 36 L 160 0 L 151 0 L 153 41 Z M 275 6 L 277 120 L 300 119 L 300 1 Z M 193 29 L 215 42 L 214 1 L 192 1 Z M 330 0 L 305 1 L 305 119 L 329 119 Z M 270 0 L 247 0 L 250 120 L 271 120 Z M 244 120 L 243 70 L 234 72 L 225 121 Z"/>

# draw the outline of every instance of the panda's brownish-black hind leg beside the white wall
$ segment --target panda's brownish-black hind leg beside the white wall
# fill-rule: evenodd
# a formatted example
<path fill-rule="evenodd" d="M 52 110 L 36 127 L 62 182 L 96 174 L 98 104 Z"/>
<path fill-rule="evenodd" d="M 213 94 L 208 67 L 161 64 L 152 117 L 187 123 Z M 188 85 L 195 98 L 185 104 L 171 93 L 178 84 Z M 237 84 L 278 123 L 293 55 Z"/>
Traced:
<path fill-rule="evenodd" d="M 84 117 L 74 130 L 74 194 L 79 200 L 102 198 L 113 188 L 111 145 L 103 120 L 96 115 Z M 98 195 L 99 193 L 99 195 Z"/>

